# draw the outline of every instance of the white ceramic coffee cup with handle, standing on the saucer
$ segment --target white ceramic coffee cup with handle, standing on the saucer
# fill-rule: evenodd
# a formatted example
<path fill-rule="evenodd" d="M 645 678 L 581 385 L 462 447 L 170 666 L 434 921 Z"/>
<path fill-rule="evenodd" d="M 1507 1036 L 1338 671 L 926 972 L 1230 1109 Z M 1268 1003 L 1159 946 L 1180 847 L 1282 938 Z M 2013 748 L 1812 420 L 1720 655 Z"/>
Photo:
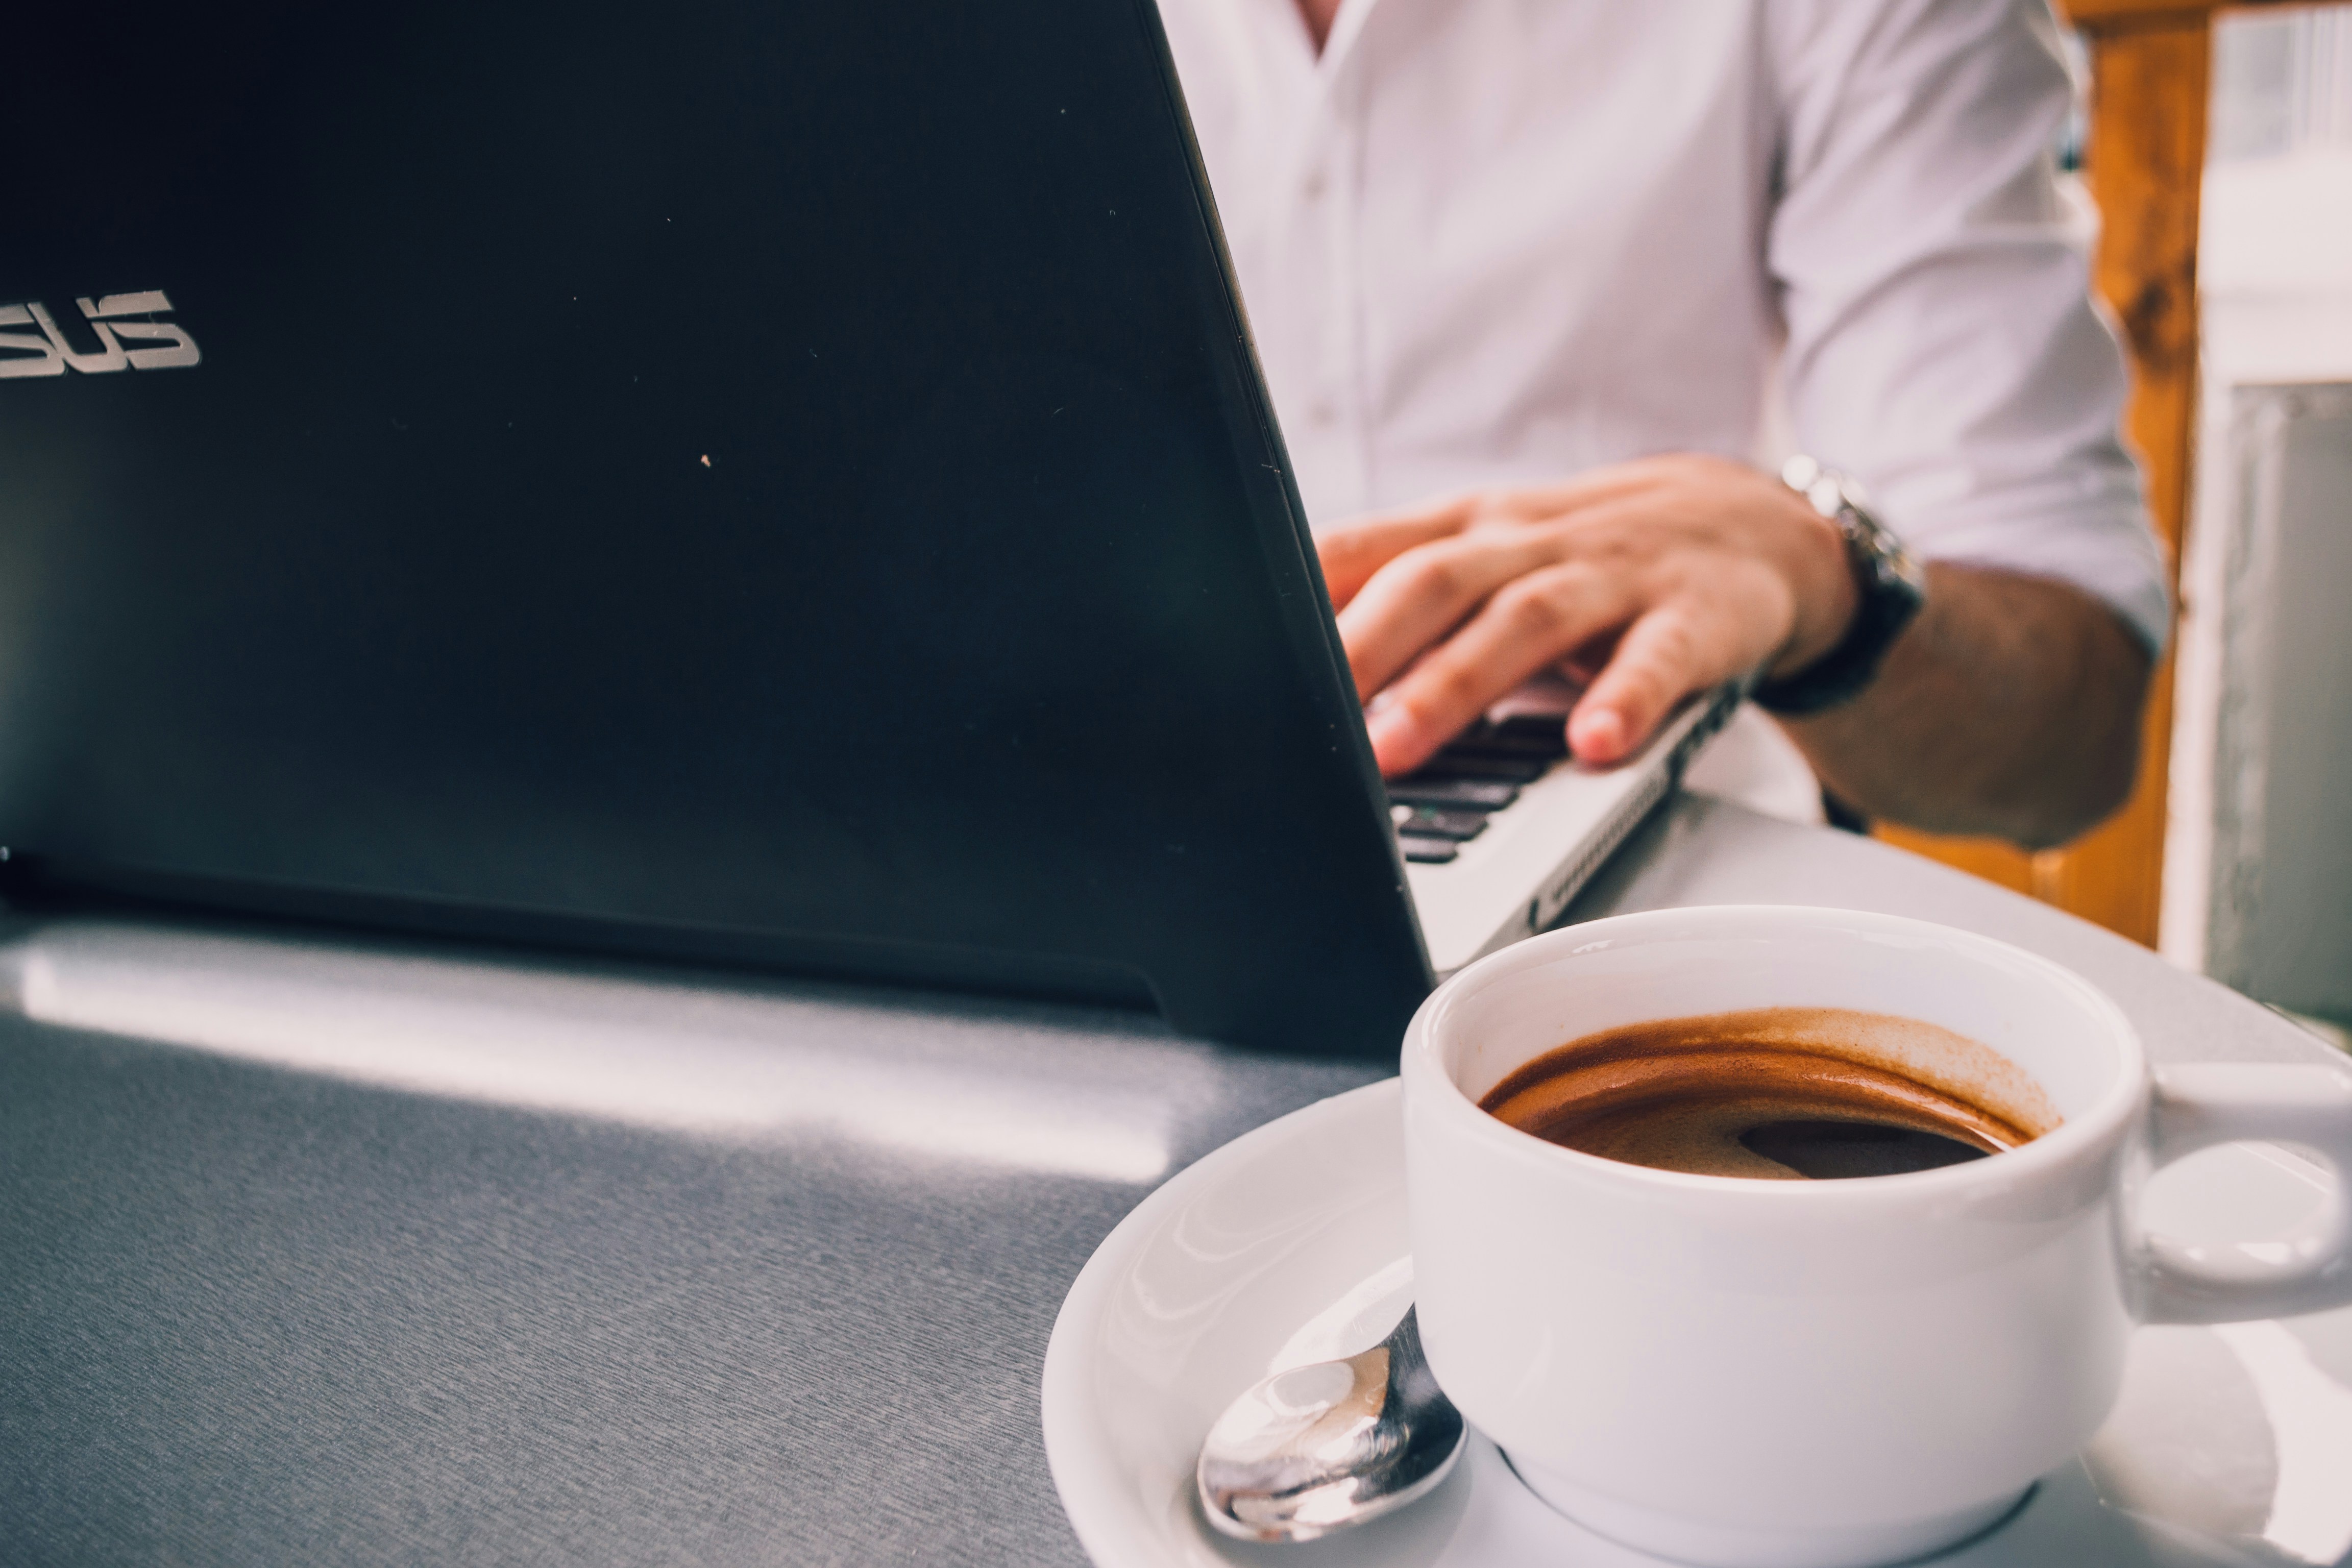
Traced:
<path fill-rule="evenodd" d="M 1940 1171 L 1804 1182 L 1618 1164 L 1477 1105 L 1583 1034 L 1759 1006 L 1955 1030 L 2065 1124 Z M 2145 1234 L 2147 1171 L 2237 1138 L 2328 1159 L 2324 1213 L 2241 1248 Z M 1552 1507 L 1691 1563 L 1933 1552 L 2098 1429 L 2133 1324 L 2352 1300 L 2352 1067 L 2150 1077 L 2086 980 L 1889 914 L 1625 914 L 1472 964 L 1404 1037 L 1404 1159 L 1439 1385 Z"/>

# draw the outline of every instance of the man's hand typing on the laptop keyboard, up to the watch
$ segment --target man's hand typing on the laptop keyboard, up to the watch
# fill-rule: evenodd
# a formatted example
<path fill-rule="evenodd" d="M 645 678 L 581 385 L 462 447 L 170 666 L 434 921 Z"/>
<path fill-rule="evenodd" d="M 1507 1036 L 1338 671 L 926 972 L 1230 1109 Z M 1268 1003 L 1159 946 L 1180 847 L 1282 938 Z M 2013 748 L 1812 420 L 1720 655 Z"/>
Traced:
<path fill-rule="evenodd" d="M 1778 480 L 1710 456 L 1482 491 L 1322 536 L 1383 773 L 1406 773 L 1550 665 L 1590 684 L 1585 762 L 1618 762 L 1691 691 L 1785 675 L 1844 637 L 1844 538 Z"/>

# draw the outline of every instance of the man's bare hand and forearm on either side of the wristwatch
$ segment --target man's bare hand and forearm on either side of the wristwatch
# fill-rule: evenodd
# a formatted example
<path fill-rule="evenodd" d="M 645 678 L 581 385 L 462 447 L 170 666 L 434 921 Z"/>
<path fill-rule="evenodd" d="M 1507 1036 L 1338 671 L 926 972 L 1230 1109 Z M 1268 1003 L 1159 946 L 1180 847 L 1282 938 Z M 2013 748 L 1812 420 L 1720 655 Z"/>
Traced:
<path fill-rule="evenodd" d="M 1383 773 L 1557 663 L 1590 679 L 1569 745 L 1616 762 L 1684 693 L 1813 663 L 1856 604 L 1811 503 L 1700 456 L 1376 517 L 1327 534 L 1322 562 Z M 2089 592 L 1938 562 L 1879 677 L 1785 729 L 1870 816 L 2063 844 L 2131 790 L 2150 668 Z"/>

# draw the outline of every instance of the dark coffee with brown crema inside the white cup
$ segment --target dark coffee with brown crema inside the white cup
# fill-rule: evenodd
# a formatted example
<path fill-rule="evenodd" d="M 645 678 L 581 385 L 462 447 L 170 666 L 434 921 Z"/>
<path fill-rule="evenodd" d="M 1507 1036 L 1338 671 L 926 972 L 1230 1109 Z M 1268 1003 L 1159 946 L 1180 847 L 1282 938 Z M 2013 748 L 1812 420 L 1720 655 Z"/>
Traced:
<path fill-rule="evenodd" d="M 2039 1084 L 1964 1034 L 1797 1006 L 1585 1034 L 1512 1072 L 1479 1107 L 1585 1154 L 1764 1180 L 1929 1171 L 2060 1121 Z"/>

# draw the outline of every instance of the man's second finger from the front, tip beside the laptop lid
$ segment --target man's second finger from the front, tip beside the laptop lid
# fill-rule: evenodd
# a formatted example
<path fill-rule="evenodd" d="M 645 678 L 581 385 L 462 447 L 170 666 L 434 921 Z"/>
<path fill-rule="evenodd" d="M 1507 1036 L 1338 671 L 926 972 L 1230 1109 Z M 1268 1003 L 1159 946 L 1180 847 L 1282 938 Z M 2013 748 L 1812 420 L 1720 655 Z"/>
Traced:
<path fill-rule="evenodd" d="M 1635 585 L 1588 564 L 1534 571 L 1496 592 L 1367 715 L 1381 773 L 1411 773 L 1505 691 L 1623 623 Z"/>

